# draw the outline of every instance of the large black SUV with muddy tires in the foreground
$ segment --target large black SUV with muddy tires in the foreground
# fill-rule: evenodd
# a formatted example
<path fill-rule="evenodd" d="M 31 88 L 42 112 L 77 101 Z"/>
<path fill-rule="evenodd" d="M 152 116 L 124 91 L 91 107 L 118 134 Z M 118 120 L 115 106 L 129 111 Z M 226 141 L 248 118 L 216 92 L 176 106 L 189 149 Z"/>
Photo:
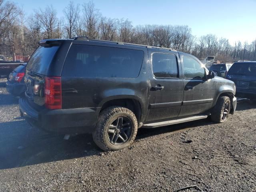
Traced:
<path fill-rule="evenodd" d="M 89 38 L 50 39 L 26 66 L 22 116 L 44 130 L 92 133 L 102 150 L 132 144 L 138 128 L 236 109 L 235 84 L 176 50 Z"/>

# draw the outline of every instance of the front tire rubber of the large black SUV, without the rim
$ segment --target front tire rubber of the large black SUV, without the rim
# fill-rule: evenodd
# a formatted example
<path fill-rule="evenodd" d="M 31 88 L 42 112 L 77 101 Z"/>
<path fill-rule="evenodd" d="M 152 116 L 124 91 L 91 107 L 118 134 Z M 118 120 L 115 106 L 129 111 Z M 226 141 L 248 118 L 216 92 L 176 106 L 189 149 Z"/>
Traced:
<path fill-rule="evenodd" d="M 225 104 L 228 103 L 228 114 L 226 116 L 226 118 L 223 120 L 223 112 L 224 112 L 224 106 Z M 217 100 L 216 105 L 214 106 L 214 108 L 211 111 L 211 120 L 212 122 L 215 123 L 223 123 L 228 119 L 228 115 L 230 112 L 230 98 L 228 96 L 220 96 Z"/>

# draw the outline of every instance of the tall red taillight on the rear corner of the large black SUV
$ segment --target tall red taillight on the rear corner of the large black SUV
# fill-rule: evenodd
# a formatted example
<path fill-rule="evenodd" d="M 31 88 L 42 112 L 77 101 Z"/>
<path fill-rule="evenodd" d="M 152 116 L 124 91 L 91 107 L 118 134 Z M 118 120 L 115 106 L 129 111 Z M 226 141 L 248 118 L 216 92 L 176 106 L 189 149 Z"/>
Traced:
<path fill-rule="evenodd" d="M 44 99 L 48 109 L 61 109 L 61 78 L 45 77 Z"/>

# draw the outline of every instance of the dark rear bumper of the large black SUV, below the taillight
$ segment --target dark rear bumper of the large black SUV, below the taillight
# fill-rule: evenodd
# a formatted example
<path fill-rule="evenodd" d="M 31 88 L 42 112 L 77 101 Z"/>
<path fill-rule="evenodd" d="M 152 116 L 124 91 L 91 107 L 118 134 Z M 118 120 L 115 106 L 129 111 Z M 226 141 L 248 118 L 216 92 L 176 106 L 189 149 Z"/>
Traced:
<path fill-rule="evenodd" d="M 32 125 L 50 132 L 64 134 L 92 133 L 99 108 L 36 110 L 26 98 L 19 100 L 20 112 Z"/>

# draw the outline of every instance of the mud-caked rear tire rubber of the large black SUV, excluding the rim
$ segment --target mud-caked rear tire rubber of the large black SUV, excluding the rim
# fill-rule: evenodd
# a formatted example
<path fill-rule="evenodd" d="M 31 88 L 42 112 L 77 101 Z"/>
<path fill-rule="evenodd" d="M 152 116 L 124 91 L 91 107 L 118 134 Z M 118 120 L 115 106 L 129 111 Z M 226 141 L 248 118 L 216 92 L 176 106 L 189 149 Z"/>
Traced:
<path fill-rule="evenodd" d="M 130 138 L 120 145 L 113 145 L 108 140 L 108 127 L 118 117 L 127 117 L 131 121 L 132 134 Z M 100 112 L 94 132 L 92 133 L 95 144 L 104 151 L 120 150 L 130 146 L 136 137 L 138 122 L 134 113 L 128 108 L 111 106 Z"/>

